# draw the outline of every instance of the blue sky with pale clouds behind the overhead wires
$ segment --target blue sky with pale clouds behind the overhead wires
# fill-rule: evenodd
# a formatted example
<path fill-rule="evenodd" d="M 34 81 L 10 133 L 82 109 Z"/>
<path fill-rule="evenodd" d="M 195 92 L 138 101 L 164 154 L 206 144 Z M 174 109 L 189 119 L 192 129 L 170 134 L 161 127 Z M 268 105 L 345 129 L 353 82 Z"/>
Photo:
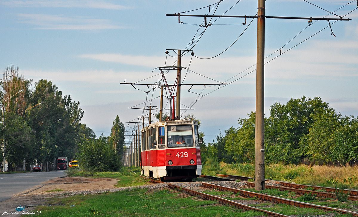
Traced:
<path fill-rule="evenodd" d="M 347 4 L 349 0 L 310 2 L 331 12 L 346 5 L 334 12 L 340 16 L 357 8 L 357 2 Z M 144 104 L 140 103 L 146 99 L 149 100 L 146 105 L 159 107 L 156 97 L 160 90 L 146 86 L 137 86 L 140 90 L 136 90 L 130 85 L 120 85 L 120 82 L 138 82 L 158 74 L 158 70 L 152 73 L 154 68 L 174 64 L 176 60 L 166 57 L 166 49 L 185 49 L 195 33 L 198 32 L 194 38 L 197 39 L 204 30 L 198 26 L 203 18 L 181 17 L 180 21 L 189 24 L 179 24 L 178 17 L 165 14 L 214 3 L 217 1 L 2 0 L 0 68 L 4 70 L 12 63 L 19 66 L 25 78 L 33 79 L 33 83 L 39 79 L 51 80 L 63 95 L 71 95 L 73 100 L 80 101 L 84 110 L 82 123 L 95 130 L 97 135 L 109 135 L 116 115 L 122 122 L 142 116 L 141 110 L 127 107 L 142 107 Z M 215 14 L 223 14 L 235 3 L 237 0 L 222 1 Z M 215 9 L 211 6 L 209 14 Z M 187 14 L 208 12 L 208 8 L 204 8 Z M 257 1 L 241 0 L 225 15 L 254 16 L 256 13 Z M 324 17 L 328 14 L 303 0 L 266 1 L 268 16 Z M 332 14 L 328 17 L 337 18 Z M 302 96 L 319 96 L 343 115 L 358 115 L 358 9 L 345 18 L 352 20 L 334 24 L 331 21 L 336 37 L 331 35 L 329 27 L 311 37 L 328 26 L 324 20 L 307 27 L 307 20 L 266 19 L 265 56 L 274 53 L 266 62 L 278 56 L 265 65 L 266 115 L 269 115 L 272 103 L 286 103 L 291 97 Z M 251 20 L 247 19 L 247 24 Z M 241 18 L 218 19 L 192 48 L 197 57 L 216 56 L 247 28 L 220 56 L 207 60 L 191 58 L 190 54 L 182 57 L 182 66 L 190 64 L 189 69 L 193 72 L 216 81 L 233 82 L 218 90 L 217 86 L 193 87 L 190 91 L 195 93 L 188 92 L 190 86 L 182 87 L 182 104 L 195 108 L 184 115 L 194 113 L 202 120 L 200 129 L 206 134 L 207 141 L 212 141 L 219 130 L 237 127 L 238 117 L 243 118 L 255 110 L 256 72 L 253 65 L 256 63 L 257 21 L 254 19 L 250 26 L 240 24 L 244 21 Z M 281 47 L 283 54 L 279 55 L 277 50 Z M 176 54 L 170 51 L 169 55 Z M 186 74 L 184 83 L 214 82 L 193 72 L 182 71 L 182 77 Z M 168 73 L 169 83 L 174 83 L 174 76 L 175 72 Z M 142 83 L 153 83 L 158 79 L 159 75 Z M 210 94 L 201 98 L 196 93 Z M 133 127 L 125 126 L 127 129 Z"/>

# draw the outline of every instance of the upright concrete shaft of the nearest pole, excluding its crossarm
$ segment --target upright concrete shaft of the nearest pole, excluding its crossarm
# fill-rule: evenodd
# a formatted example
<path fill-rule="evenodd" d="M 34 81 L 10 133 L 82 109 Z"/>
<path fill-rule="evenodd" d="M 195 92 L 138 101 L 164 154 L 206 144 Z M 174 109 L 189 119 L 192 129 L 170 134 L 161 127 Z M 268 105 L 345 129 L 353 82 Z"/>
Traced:
<path fill-rule="evenodd" d="M 257 6 L 257 62 L 256 62 L 256 125 L 255 125 L 255 190 L 265 189 L 265 134 L 264 134 L 264 54 L 265 54 L 265 0 Z"/>

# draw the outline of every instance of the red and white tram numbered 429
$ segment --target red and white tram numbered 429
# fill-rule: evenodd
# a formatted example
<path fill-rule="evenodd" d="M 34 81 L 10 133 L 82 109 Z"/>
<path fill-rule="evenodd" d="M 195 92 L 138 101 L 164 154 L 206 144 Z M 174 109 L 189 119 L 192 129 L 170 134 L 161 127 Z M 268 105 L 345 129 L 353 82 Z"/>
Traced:
<path fill-rule="evenodd" d="M 191 180 L 200 176 L 201 142 L 198 122 L 191 119 L 155 122 L 144 127 L 141 174 L 158 180 Z"/>

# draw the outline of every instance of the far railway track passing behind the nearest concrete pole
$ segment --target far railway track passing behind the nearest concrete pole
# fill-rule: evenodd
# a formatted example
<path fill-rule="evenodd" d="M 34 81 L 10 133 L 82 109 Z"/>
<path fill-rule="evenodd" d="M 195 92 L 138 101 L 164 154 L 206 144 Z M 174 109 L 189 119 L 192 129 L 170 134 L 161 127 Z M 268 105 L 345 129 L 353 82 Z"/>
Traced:
<path fill-rule="evenodd" d="M 251 177 L 245 177 L 245 176 L 239 176 L 239 175 L 223 175 L 223 174 L 216 174 L 217 176 L 219 176 L 218 178 L 221 177 L 226 177 L 226 178 L 231 178 L 232 180 L 248 180 L 248 179 L 253 179 Z M 208 177 L 209 178 L 209 177 Z M 276 189 L 282 189 L 282 191 L 293 191 L 296 193 L 300 193 L 300 194 L 304 194 L 304 193 L 312 193 L 312 194 L 317 194 L 320 197 L 325 197 L 325 198 L 335 198 L 335 188 L 329 188 L 329 187 L 321 187 L 321 186 L 315 186 L 315 185 L 302 185 L 302 184 L 294 184 L 294 183 L 289 183 L 289 182 L 281 182 L 281 181 L 276 181 L 276 180 L 270 180 L 270 179 L 265 179 L 266 181 L 274 181 L 274 182 L 279 182 L 282 186 L 286 187 L 274 187 L 271 185 L 265 185 L 265 187 L 267 188 L 276 188 Z M 250 183 L 247 182 L 249 186 L 254 187 L 254 183 Z M 321 192 L 321 191 L 310 191 L 310 190 L 306 190 L 305 188 L 313 188 L 314 190 L 323 190 L 325 192 Z M 300 190 L 297 190 L 300 189 Z M 349 190 L 349 189 L 338 189 L 338 190 L 342 190 L 344 193 L 349 193 L 348 199 L 352 200 L 352 201 L 358 201 L 358 191 L 355 190 Z M 330 192 L 334 192 L 334 193 L 330 193 Z"/>

